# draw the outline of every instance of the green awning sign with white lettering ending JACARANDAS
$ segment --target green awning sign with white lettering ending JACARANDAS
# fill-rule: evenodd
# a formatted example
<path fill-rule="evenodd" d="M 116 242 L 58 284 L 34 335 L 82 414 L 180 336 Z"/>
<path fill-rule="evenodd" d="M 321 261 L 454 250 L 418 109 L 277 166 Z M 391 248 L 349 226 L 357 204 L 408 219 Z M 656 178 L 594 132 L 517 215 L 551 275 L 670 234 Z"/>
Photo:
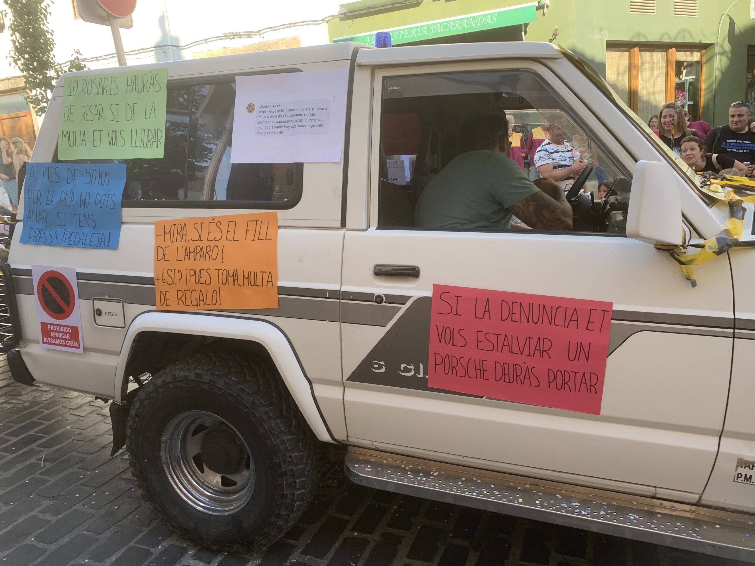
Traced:
<path fill-rule="evenodd" d="M 510 8 L 501 8 L 501 10 L 451 17 L 446 20 L 415 23 L 411 26 L 394 27 L 393 29 L 376 29 L 374 32 L 335 38 L 333 42 L 359 42 L 366 45 L 374 45 L 375 33 L 390 32 L 393 45 L 401 45 L 402 43 L 421 42 L 425 39 L 434 39 L 458 33 L 479 32 L 483 29 L 495 29 L 506 26 L 519 26 L 521 23 L 534 22 L 537 8 L 538 3 L 531 2 L 530 4 L 522 4 Z"/>

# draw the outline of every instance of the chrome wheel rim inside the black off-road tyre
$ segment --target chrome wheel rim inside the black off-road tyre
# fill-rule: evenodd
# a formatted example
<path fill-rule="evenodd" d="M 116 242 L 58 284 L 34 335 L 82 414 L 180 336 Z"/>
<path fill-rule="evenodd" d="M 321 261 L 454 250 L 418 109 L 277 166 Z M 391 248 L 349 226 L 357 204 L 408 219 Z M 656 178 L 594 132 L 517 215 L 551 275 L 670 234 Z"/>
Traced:
<path fill-rule="evenodd" d="M 162 433 L 162 466 L 180 497 L 202 512 L 230 515 L 254 492 L 254 462 L 239 432 L 206 411 L 174 417 Z"/>

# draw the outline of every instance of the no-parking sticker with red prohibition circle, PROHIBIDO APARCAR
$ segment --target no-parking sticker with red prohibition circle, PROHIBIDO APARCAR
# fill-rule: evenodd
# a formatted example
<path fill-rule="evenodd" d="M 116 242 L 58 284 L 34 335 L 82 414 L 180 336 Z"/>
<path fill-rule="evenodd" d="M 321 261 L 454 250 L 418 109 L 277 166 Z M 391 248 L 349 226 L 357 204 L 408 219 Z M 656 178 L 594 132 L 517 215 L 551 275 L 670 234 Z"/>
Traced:
<path fill-rule="evenodd" d="M 76 270 L 72 267 L 32 266 L 32 278 L 39 344 L 42 348 L 83 353 Z"/>

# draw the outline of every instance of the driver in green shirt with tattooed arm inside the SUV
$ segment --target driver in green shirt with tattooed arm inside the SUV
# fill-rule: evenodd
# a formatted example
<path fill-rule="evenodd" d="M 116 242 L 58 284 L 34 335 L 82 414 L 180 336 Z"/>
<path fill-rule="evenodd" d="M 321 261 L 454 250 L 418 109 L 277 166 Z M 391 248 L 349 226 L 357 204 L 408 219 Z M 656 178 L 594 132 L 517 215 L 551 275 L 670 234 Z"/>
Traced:
<path fill-rule="evenodd" d="M 550 179 L 533 183 L 507 157 L 506 115 L 478 115 L 461 126 L 464 152 L 430 180 L 417 202 L 414 226 L 504 230 L 511 217 L 530 228 L 571 230 L 572 208 Z"/>

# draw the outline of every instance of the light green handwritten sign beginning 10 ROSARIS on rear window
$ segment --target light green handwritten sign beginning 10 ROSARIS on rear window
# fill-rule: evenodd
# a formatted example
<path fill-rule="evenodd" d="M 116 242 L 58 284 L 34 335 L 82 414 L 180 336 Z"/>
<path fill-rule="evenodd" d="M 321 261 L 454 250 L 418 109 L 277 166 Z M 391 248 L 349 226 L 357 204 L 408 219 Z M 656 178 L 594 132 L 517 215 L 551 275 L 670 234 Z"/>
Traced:
<path fill-rule="evenodd" d="M 57 156 L 162 159 L 167 69 L 66 76 Z"/>

